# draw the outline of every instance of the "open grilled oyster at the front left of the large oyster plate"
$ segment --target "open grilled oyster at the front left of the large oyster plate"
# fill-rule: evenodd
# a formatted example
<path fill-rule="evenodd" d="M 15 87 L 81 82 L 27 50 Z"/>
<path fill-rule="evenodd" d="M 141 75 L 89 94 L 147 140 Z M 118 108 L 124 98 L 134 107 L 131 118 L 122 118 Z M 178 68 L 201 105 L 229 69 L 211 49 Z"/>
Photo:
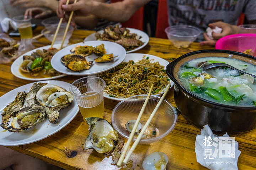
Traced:
<path fill-rule="evenodd" d="M 1 126 L 10 132 L 21 132 L 44 121 L 45 115 L 44 107 L 35 104 L 27 111 L 19 112 L 16 117 L 11 117 L 7 122 L 1 123 Z"/>

